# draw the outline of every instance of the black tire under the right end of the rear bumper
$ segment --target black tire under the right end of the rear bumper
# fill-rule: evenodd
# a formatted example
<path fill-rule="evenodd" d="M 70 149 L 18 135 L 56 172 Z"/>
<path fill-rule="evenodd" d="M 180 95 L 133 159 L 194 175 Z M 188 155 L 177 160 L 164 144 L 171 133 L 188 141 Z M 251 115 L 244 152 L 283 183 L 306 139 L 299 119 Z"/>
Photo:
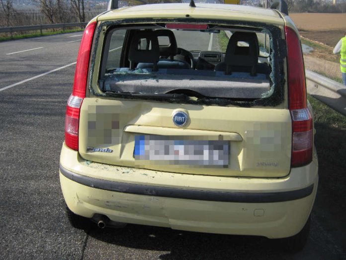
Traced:
<path fill-rule="evenodd" d="M 305 223 L 303 229 L 296 235 L 281 239 L 281 243 L 285 251 L 297 253 L 303 250 L 309 238 L 310 232 L 310 216 Z"/>

